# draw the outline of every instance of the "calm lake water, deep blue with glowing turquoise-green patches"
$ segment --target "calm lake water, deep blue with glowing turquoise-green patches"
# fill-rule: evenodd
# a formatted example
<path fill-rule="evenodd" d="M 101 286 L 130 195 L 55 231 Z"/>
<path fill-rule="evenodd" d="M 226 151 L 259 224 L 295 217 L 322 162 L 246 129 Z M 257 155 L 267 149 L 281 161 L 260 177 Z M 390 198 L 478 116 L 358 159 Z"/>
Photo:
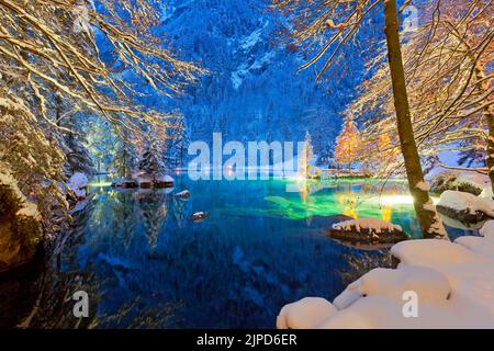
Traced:
<path fill-rule="evenodd" d="M 284 304 L 333 299 L 370 269 L 389 267 L 386 249 L 360 250 L 325 236 L 341 215 L 380 217 L 417 237 L 404 185 L 177 174 L 173 190 L 122 191 L 96 179 L 91 204 L 46 265 L 0 279 L 0 325 L 272 328 Z M 188 201 L 173 195 L 186 189 Z M 199 211 L 210 216 L 192 223 Z M 90 297 L 83 320 L 72 316 L 70 297 L 79 290 Z"/>

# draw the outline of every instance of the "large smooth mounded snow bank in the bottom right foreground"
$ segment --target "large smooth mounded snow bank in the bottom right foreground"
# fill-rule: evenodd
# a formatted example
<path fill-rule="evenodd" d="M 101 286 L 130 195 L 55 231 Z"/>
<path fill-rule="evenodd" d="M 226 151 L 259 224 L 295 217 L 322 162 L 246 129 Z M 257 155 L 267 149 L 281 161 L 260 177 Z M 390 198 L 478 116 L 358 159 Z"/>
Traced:
<path fill-rule="evenodd" d="M 310 297 L 287 305 L 277 327 L 494 328 L 494 220 L 481 234 L 396 244 L 397 269 L 370 271 L 333 304 Z M 404 314 L 411 294 L 416 317 Z"/>

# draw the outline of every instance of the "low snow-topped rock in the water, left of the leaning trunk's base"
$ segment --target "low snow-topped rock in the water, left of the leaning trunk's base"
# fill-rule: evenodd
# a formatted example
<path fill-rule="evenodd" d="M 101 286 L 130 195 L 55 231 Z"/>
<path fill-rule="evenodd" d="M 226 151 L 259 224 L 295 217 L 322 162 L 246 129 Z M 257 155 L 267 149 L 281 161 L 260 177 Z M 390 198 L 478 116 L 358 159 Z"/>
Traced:
<path fill-rule="evenodd" d="M 351 244 L 395 244 L 407 236 L 398 225 L 379 218 L 358 218 L 336 223 L 328 230 L 329 237 Z"/>

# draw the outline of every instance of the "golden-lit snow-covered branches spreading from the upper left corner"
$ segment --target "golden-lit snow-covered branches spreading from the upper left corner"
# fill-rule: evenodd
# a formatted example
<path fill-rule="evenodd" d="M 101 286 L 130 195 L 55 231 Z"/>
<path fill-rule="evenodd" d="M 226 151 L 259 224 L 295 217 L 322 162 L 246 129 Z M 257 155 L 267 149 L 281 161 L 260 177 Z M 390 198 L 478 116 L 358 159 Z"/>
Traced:
<path fill-rule="evenodd" d="M 100 0 L 96 7 L 90 0 L 0 0 L 1 73 L 33 97 L 54 127 L 47 114 L 54 91 L 134 133 L 142 133 L 142 123 L 166 125 L 167 114 L 135 103 L 136 80 L 170 95 L 202 69 L 153 36 L 162 7 L 161 0 Z M 117 67 L 126 73 L 115 75 Z"/>

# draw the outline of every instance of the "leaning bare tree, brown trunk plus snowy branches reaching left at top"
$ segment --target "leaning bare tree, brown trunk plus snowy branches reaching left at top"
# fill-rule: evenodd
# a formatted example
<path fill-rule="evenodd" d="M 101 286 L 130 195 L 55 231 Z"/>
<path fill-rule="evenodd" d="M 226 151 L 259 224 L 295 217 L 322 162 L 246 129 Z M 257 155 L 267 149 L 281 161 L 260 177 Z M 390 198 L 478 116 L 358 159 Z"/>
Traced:
<path fill-rule="evenodd" d="M 301 69 L 306 69 L 327 57 L 317 73 L 317 79 L 330 67 L 344 46 L 356 39 L 364 21 L 380 9 L 383 10 L 386 57 L 389 59 L 388 76 L 391 78 L 396 132 L 408 179 L 408 189 L 414 197 L 415 212 L 420 223 L 423 236 L 425 238 L 446 237 L 442 222 L 429 196 L 427 186 L 425 186 L 420 158 L 415 141 L 402 59 L 396 1 L 272 0 L 272 2 L 274 8 L 284 13 L 291 22 L 289 30 L 297 45 L 312 46 L 314 42 L 323 44 L 318 53 L 301 66 Z M 405 2 L 405 7 L 408 4 L 409 1 Z"/>

